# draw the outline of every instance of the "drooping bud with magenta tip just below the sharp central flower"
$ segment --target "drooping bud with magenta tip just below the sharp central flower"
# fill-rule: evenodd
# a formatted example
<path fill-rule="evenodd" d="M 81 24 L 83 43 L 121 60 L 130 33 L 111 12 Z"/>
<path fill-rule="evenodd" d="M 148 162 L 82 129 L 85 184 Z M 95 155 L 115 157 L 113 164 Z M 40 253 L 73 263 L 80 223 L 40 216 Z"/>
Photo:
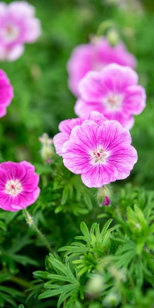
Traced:
<path fill-rule="evenodd" d="M 99 206 L 109 205 L 110 196 L 111 196 L 111 192 L 110 192 L 109 187 L 104 185 L 103 187 L 99 188 L 97 192 L 97 201 L 99 203 Z"/>

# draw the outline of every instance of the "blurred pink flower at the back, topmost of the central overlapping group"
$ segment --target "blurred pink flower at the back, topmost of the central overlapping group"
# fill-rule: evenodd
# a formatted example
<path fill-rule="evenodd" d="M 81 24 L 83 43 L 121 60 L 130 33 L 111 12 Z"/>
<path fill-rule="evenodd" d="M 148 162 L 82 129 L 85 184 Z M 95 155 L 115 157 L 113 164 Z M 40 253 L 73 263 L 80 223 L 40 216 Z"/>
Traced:
<path fill-rule="evenodd" d="M 113 47 L 105 37 L 102 37 L 95 43 L 76 47 L 67 65 L 70 90 L 78 97 L 79 81 L 85 74 L 91 70 L 100 71 L 110 63 L 136 67 L 135 57 L 126 50 L 123 43 Z"/>

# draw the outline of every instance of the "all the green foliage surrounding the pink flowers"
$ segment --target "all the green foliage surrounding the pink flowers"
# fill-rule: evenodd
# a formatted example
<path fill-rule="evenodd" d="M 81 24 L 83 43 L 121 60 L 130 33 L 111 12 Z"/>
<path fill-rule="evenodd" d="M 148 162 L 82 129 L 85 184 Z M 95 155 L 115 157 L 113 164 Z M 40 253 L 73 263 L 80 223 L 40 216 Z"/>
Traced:
<path fill-rule="evenodd" d="M 59 252 L 46 257 L 23 213 L 0 209 L 0 307 L 153 308 L 153 1 L 29 2 L 43 30 L 20 59 L 1 62 L 14 99 L 0 123 L 0 161 L 35 165 L 41 195 L 28 210 Z M 131 130 L 138 163 L 127 180 L 112 185 L 111 206 L 99 207 L 96 189 L 71 174 L 53 148 L 51 164 L 42 162 L 38 137 L 53 137 L 61 120 L 75 116 L 66 63 L 106 20 L 137 56 L 147 106 Z"/>

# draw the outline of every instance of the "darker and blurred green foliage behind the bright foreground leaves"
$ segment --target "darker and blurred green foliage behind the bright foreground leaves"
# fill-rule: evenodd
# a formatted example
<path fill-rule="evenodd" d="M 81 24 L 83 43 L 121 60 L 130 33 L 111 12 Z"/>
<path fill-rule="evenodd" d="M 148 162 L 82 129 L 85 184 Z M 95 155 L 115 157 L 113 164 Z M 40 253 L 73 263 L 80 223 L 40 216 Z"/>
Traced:
<path fill-rule="evenodd" d="M 35 164 L 36 171 L 41 175 L 42 193 L 29 211 L 56 252 L 60 247 L 70 245 L 74 236 L 81 234 L 81 221 L 84 220 L 90 227 L 93 222 L 103 221 L 106 217 L 115 220 L 117 204 L 118 213 L 125 219 L 128 206 L 133 208 L 137 204 L 143 210 L 149 200 L 148 194 L 154 184 L 154 2 L 33 0 L 29 3 L 35 6 L 36 15 L 41 20 L 42 35 L 36 43 L 26 45 L 20 59 L 1 63 L 1 68 L 7 72 L 14 87 L 14 99 L 6 117 L 0 121 L 0 161 L 28 160 Z M 75 116 L 75 98 L 68 89 L 66 63 L 72 49 L 88 42 L 90 35 L 95 34 L 100 23 L 106 20 L 115 23 L 128 50 L 137 57 L 137 72 L 140 84 L 146 88 L 147 106 L 141 115 L 136 116 L 131 130 L 132 144 L 138 151 L 138 163 L 127 180 L 112 185 L 114 206 L 102 214 L 103 210 L 94 198 L 95 189 L 87 189 L 79 177 L 71 177 L 70 172 L 62 166 L 61 158 L 54 156 L 51 166 L 42 165 L 38 137 L 43 132 L 53 137 L 61 120 Z M 131 186 L 127 186 L 127 182 L 131 182 Z M 120 193 L 123 186 L 125 188 Z M 47 251 L 33 231 L 30 228 L 27 230 L 21 212 L 0 211 L 0 306 L 17 307 L 17 303 L 24 303 L 27 308 L 55 307 L 54 298 L 52 301 L 34 299 L 43 284 L 38 281 L 41 283 L 39 285 L 36 281 L 36 287 L 31 286 L 32 272 L 44 269 Z M 29 291 L 26 295 L 22 291 L 29 287 L 35 291 L 26 303 Z M 144 285 L 146 287 L 148 290 L 149 285 Z M 141 293 L 141 290 L 134 292 L 136 299 L 131 306 L 152 308 L 152 293 L 147 291 L 145 300 Z M 97 301 L 94 304 L 90 303 L 89 307 L 100 307 Z M 129 304 L 124 306 L 129 307 Z"/>

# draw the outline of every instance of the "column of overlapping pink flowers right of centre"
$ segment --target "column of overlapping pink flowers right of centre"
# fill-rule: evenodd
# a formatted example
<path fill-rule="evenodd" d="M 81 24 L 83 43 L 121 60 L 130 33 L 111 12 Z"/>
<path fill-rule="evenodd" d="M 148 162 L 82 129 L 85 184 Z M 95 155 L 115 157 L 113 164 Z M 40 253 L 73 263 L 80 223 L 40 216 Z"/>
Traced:
<path fill-rule="evenodd" d="M 127 178 L 137 162 L 128 129 L 145 108 L 146 94 L 135 64 L 123 44 L 112 47 L 105 38 L 77 47 L 68 62 L 80 118 L 62 121 L 53 143 L 64 165 L 88 187 Z M 105 196 L 103 204 L 109 203 Z"/>

